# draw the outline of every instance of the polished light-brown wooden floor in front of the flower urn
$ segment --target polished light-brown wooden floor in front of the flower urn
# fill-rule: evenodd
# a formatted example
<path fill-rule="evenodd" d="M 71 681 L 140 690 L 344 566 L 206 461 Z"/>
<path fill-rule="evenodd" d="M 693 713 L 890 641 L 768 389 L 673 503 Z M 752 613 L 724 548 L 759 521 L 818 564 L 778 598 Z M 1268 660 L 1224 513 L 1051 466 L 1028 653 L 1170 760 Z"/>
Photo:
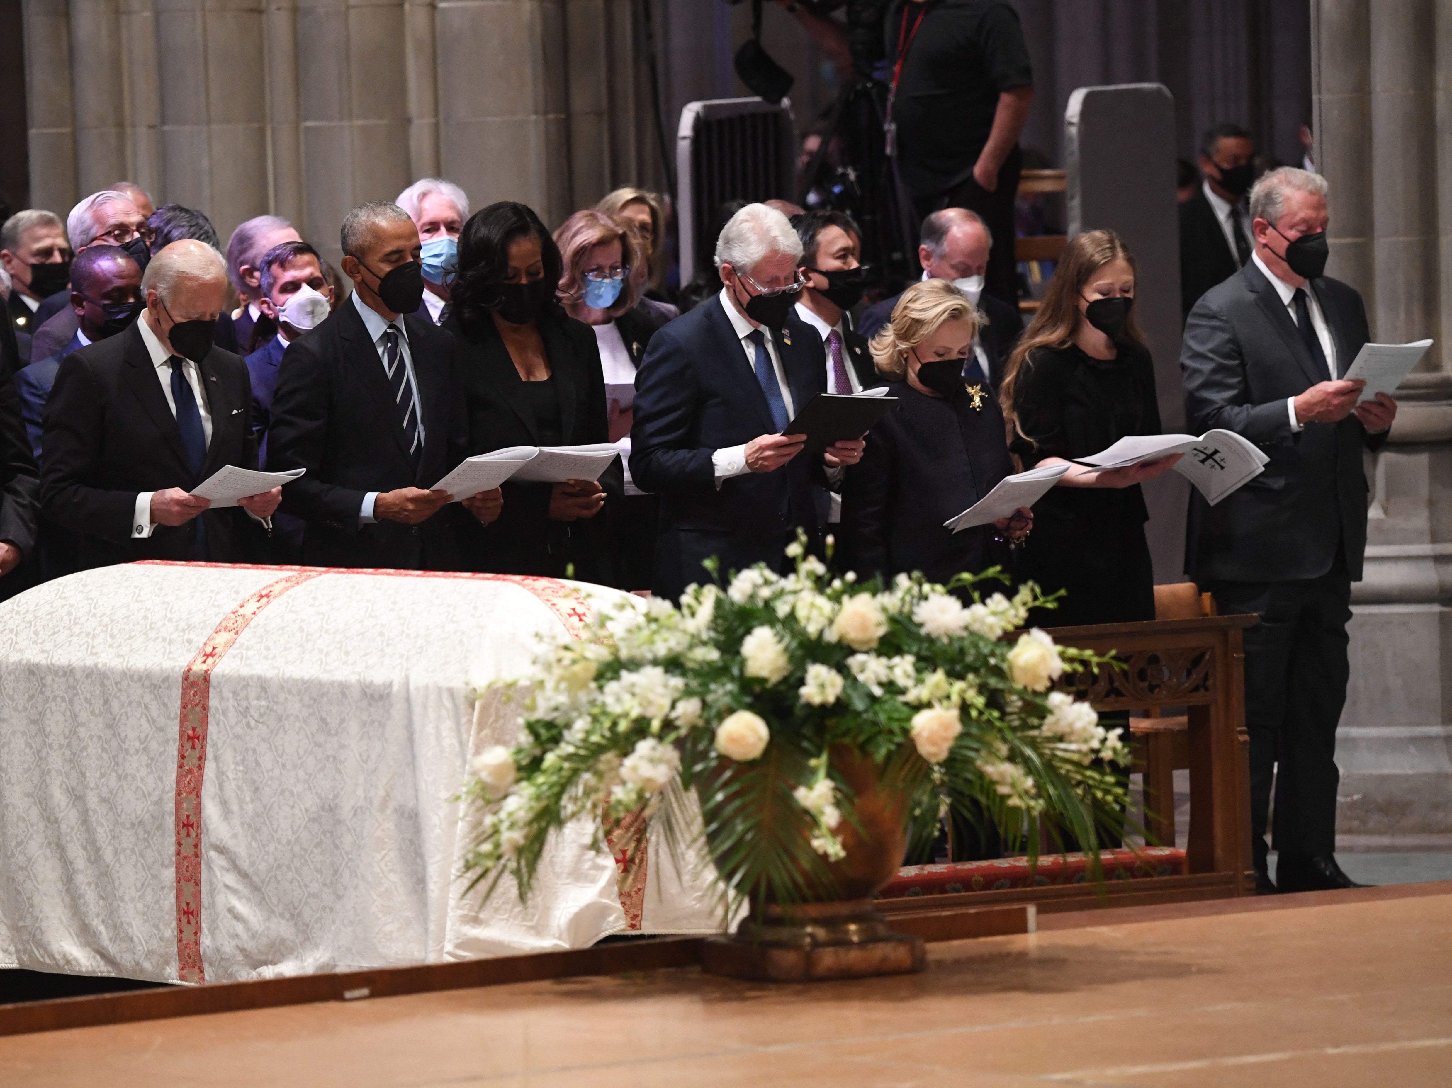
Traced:
<path fill-rule="evenodd" d="M 13 1036 L 0 1084 L 1440 1088 L 1452 886 L 1382 890 L 1054 915 L 897 979 L 672 969 Z"/>

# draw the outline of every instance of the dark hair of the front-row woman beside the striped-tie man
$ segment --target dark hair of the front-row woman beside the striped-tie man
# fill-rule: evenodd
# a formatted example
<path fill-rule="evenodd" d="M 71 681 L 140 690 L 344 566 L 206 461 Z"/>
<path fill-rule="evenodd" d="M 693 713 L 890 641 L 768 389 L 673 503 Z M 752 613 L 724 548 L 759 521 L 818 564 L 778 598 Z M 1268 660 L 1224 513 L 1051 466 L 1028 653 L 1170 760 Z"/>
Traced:
<path fill-rule="evenodd" d="M 510 243 L 531 237 L 540 241 L 543 279 L 555 288 L 563 272 L 563 260 L 533 208 L 515 200 L 501 200 L 481 208 L 463 225 L 459 235 L 459 269 L 449 286 L 449 308 L 469 336 L 494 327 L 489 311 L 498 304 L 499 286 L 510 270 Z M 565 309 L 550 292 L 539 321 L 563 320 Z"/>

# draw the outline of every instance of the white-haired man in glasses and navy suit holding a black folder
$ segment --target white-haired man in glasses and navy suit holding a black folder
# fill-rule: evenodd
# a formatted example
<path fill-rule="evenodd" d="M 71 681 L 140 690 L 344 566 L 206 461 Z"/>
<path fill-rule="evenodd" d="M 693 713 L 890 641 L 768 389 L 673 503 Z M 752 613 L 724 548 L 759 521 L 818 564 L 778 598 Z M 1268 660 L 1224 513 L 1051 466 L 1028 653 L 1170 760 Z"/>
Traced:
<path fill-rule="evenodd" d="M 656 596 L 680 597 L 755 562 L 780 568 L 799 529 L 820 530 L 813 484 L 862 456 L 861 440 L 807 463 L 783 434 L 826 391 L 822 338 L 793 312 L 802 241 L 781 212 L 752 203 L 716 241 L 720 293 L 659 330 L 636 373 L 630 475 L 661 495 Z"/>

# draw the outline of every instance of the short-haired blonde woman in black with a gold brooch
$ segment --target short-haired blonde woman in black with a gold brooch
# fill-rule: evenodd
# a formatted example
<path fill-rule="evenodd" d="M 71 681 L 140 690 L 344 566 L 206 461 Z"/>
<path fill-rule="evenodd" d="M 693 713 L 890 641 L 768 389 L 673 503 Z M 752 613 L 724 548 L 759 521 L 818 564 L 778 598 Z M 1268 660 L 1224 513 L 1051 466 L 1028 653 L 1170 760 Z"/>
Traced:
<path fill-rule="evenodd" d="M 899 399 L 867 434 L 842 487 L 842 546 L 860 577 L 922 571 L 935 582 L 1008 565 L 1032 514 L 954 533 L 944 521 L 1013 471 L 1003 417 L 982 383 L 964 381 L 979 314 L 953 283 L 929 279 L 903 292 L 873 337 L 877 372 Z"/>

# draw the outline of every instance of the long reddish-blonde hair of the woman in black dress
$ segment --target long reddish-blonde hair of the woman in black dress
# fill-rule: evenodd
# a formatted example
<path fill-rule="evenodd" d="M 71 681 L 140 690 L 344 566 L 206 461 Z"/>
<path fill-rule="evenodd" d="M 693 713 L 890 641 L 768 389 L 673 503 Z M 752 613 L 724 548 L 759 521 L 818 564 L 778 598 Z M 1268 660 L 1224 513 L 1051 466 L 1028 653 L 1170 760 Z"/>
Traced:
<path fill-rule="evenodd" d="M 1009 442 L 1013 436 L 1028 437 L 1018 426 L 1018 413 L 1013 411 L 1013 389 L 1024 368 L 1032 366 L 1029 356 L 1040 347 L 1069 347 L 1079 322 L 1085 315 L 1079 309 L 1079 298 L 1083 295 L 1085 283 L 1105 264 L 1122 260 L 1134 272 L 1135 288 L 1138 288 L 1140 270 L 1134 263 L 1134 254 L 1114 231 L 1083 231 L 1069 240 L 1059 264 L 1054 267 L 1054 277 L 1048 280 L 1048 291 L 1040 302 L 1034 320 L 1028 322 L 1024 336 L 1018 338 L 1018 346 L 1008 359 L 1003 369 L 1003 381 L 999 385 L 999 404 L 1003 407 L 1003 420 L 1008 424 Z M 1135 291 L 1138 293 L 1138 291 Z M 1134 306 L 1119 333 L 1121 344 L 1144 347 L 1144 336 L 1134 322 Z"/>

